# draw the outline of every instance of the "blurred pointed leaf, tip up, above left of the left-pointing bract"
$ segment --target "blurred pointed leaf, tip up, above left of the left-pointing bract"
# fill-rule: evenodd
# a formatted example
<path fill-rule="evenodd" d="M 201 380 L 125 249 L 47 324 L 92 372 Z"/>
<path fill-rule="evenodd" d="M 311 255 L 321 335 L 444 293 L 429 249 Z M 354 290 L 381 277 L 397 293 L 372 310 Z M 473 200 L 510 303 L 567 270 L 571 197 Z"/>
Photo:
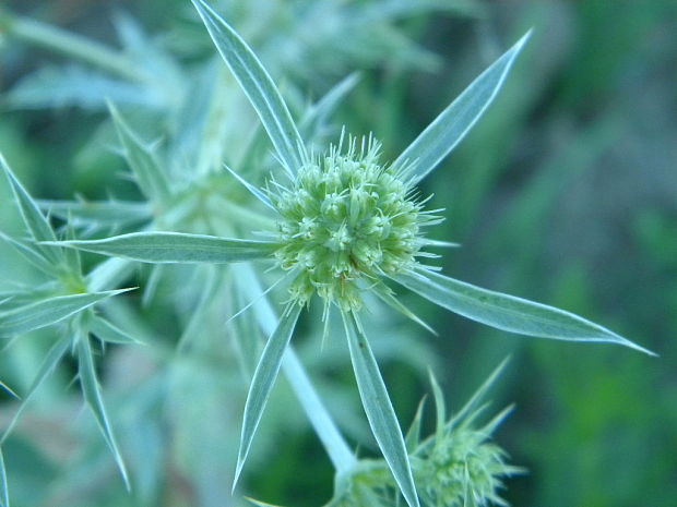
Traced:
<path fill-rule="evenodd" d="M 136 178 L 141 192 L 151 201 L 166 203 L 171 191 L 155 153 L 131 130 L 112 102 L 108 102 L 108 109 L 122 145 L 122 154 Z"/>

